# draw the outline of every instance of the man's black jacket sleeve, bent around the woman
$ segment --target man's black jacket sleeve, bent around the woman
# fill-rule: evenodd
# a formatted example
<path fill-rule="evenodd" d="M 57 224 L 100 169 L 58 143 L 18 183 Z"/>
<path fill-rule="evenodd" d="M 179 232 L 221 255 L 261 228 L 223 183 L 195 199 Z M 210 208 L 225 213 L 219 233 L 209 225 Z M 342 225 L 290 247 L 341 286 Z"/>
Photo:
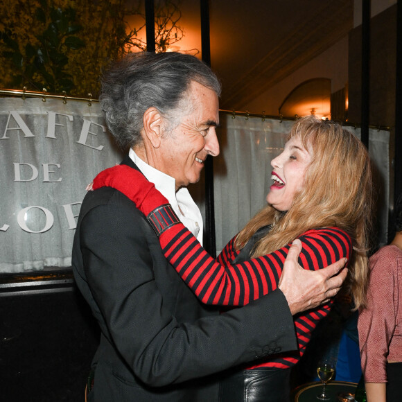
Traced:
<path fill-rule="evenodd" d="M 100 326 L 141 381 L 180 383 L 297 349 L 280 290 L 222 315 L 178 322 L 155 281 L 152 229 L 128 198 L 117 191 L 114 198 L 82 219 L 79 247 Z"/>

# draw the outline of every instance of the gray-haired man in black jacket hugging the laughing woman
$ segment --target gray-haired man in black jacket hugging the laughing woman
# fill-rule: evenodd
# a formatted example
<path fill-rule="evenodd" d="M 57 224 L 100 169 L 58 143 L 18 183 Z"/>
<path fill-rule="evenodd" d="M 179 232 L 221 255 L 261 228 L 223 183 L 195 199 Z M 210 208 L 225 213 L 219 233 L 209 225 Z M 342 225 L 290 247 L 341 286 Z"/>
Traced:
<path fill-rule="evenodd" d="M 168 199 L 202 243 L 202 217 L 186 186 L 219 154 L 220 83 L 197 58 L 136 53 L 102 80 L 100 105 L 122 164 Z M 286 259 L 279 290 L 219 315 L 204 306 L 162 254 L 146 217 L 123 193 L 103 187 L 82 202 L 73 272 L 101 330 L 89 401 L 218 401 L 220 372 L 297 349 L 292 314 L 335 295 L 336 263 L 317 272 Z M 301 285 L 303 283 L 303 285 Z"/>

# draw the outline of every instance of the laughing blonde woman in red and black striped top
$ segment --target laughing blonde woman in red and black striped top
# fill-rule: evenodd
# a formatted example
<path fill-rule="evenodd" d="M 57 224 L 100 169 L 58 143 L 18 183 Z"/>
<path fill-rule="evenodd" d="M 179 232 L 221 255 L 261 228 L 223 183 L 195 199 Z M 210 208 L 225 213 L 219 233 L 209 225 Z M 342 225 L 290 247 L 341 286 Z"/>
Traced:
<path fill-rule="evenodd" d="M 299 263 L 305 269 L 349 260 L 347 286 L 356 308 L 364 305 L 372 211 L 372 175 L 365 146 L 341 125 L 310 116 L 295 123 L 283 152 L 271 164 L 268 206 L 216 260 L 141 173 L 115 166 L 100 173 L 93 188 L 112 186 L 136 203 L 159 236 L 166 259 L 205 304 L 241 306 L 277 288 L 290 243 L 299 239 L 303 246 Z M 295 316 L 299 350 L 278 351 L 252 367 L 238 367 L 222 382 L 221 400 L 288 401 L 289 368 L 304 353 L 311 332 L 332 303 Z"/>

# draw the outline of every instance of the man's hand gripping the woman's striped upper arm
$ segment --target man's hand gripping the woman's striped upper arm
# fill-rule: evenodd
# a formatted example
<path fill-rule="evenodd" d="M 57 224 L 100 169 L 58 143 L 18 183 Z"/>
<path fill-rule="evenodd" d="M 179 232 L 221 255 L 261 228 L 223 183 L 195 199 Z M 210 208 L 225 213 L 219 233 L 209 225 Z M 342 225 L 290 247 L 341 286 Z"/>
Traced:
<path fill-rule="evenodd" d="M 279 280 L 279 289 L 285 295 L 292 315 L 328 302 L 338 293 L 347 277 L 347 268 L 342 270 L 347 259 L 340 259 L 323 270 L 309 271 L 297 262 L 301 251 L 302 242 L 296 239 L 290 247 Z"/>

